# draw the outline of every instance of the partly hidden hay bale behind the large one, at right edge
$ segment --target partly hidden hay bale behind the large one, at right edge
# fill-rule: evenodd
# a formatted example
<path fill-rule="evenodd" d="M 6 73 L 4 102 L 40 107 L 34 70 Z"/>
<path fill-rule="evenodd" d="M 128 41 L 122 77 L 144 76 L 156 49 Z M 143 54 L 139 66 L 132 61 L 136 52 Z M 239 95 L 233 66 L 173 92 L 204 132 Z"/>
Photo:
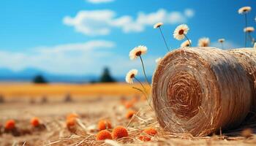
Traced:
<path fill-rule="evenodd" d="M 256 113 L 256 49 L 247 47 L 228 50 L 228 52 L 237 58 L 246 71 L 253 96 L 250 110 L 250 116 L 253 116 Z"/>

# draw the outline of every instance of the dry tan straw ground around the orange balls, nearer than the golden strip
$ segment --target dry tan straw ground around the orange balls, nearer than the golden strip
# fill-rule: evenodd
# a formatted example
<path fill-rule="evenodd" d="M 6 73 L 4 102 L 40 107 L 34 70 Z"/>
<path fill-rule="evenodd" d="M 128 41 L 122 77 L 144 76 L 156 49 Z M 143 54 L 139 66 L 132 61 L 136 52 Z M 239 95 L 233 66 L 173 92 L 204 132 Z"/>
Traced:
<path fill-rule="evenodd" d="M 72 85 L 67 86 L 70 87 Z M 31 87 L 31 85 L 25 85 L 25 87 L 28 88 Z M 116 96 L 118 95 L 116 94 Z M 48 98 L 54 97 L 55 96 L 53 95 L 48 95 Z M 13 118 L 19 129 L 22 129 L 23 131 L 31 131 L 31 133 L 21 135 L 20 137 L 13 137 L 12 134 L 0 134 L 0 144 L 52 146 L 109 145 L 107 143 L 113 142 L 115 145 L 256 144 L 255 134 L 253 134 L 252 137 L 247 137 L 249 134 L 246 134 L 246 137 L 241 137 L 241 131 L 244 127 L 236 129 L 235 131 L 223 131 L 222 134 L 211 137 L 192 137 L 190 134 L 170 134 L 159 127 L 159 124 L 155 119 L 154 111 L 151 110 L 145 99 L 137 101 L 133 99 L 132 96 L 129 96 L 129 99 L 127 98 L 126 101 L 132 101 L 132 107 L 127 109 L 124 104 L 124 99 L 121 100 L 118 98 L 86 97 L 85 99 L 81 99 L 74 96 L 72 102 L 64 103 L 62 101 L 49 101 L 45 104 L 39 104 L 37 102 L 31 104 L 26 100 L 20 102 L 7 101 L 0 104 L 0 125 L 7 119 Z M 126 112 L 128 110 L 135 110 L 138 112 L 136 112 L 135 116 L 131 119 L 127 119 Z M 71 112 L 75 112 L 79 115 L 77 120 L 78 126 L 75 128 L 75 131 L 69 131 L 65 124 L 66 116 Z M 30 119 L 34 116 L 37 116 L 42 120 L 42 123 L 46 126 L 46 130 L 35 131 L 31 128 Z M 127 127 L 129 137 L 107 142 L 97 141 L 97 123 L 101 119 L 110 120 L 112 128 L 116 126 Z M 250 123 L 249 126 L 252 128 L 253 132 L 255 132 L 256 123 Z M 151 137 L 150 142 L 141 142 L 139 137 L 142 134 L 143 129 L 148 127 L 156 128 L 158 133 L 156 136 Z M 112 128 L 110 131 L 112 131 Z"/>

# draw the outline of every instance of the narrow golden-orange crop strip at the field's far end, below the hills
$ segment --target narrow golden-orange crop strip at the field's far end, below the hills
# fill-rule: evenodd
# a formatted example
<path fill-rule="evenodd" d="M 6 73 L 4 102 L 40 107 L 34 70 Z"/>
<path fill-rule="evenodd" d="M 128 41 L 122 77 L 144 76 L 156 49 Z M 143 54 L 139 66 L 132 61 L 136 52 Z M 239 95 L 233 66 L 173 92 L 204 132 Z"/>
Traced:
<path fill-rule="evenodd" d="M 64 96 L 69 93 L 72 96 L 128 96 L 138 94 L 139 91 L 132 87 L 140 88 L 140 85 L 126 83 L 100 83 L 100 84 L 41 84 L 32 83 L 0 83 L 0 94 L 12 96 Z M 148 85 L 145 85 L 148 88 Z"/>

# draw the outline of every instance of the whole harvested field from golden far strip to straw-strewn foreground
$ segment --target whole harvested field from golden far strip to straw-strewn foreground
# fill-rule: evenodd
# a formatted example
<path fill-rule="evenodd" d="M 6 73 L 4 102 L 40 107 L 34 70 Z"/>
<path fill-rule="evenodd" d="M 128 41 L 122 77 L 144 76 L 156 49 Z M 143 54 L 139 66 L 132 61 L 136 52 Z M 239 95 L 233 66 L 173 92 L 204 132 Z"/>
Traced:
<path fill-rule="evenodd" d="M 159 127 L 154 110 L 140 92 L 126 84 L 95 85 L 33 85 L 1 83 L 0 144 L 1 145 L 255 145 L 255 134 L 244 134 L 244 128 L 255 130 L 255 123 L 209 137 L 170 134 Z M 135 111 L 132 118 L 127 112 Z M 76 113 L 75 130 L 67 128 L 66 117 Z M 45 126 L 35 129 L 30 119 L 37 117 Z M 15 120 L 20 136 L 4 132 L 6 120 Z M 129 137 L 105 142 L 97 140 L 97 123 L 107 119 L 127 128 Z M 157 129 L 151 141 L 140 140 L 143 129 Z"/>

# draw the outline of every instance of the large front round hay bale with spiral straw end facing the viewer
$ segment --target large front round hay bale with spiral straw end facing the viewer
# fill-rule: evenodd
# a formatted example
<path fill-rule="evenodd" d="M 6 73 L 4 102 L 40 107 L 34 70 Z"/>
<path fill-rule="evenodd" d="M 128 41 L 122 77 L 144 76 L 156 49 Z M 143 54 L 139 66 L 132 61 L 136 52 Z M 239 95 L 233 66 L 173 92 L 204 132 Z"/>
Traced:
<path fill-rule="evenodd" d="M 152 99 L 162 128 L 205 136 L 241 124 L 252 91 L 233 55 L 214 47 L 187 47 L 167 53 L 159 62 Z"/>

